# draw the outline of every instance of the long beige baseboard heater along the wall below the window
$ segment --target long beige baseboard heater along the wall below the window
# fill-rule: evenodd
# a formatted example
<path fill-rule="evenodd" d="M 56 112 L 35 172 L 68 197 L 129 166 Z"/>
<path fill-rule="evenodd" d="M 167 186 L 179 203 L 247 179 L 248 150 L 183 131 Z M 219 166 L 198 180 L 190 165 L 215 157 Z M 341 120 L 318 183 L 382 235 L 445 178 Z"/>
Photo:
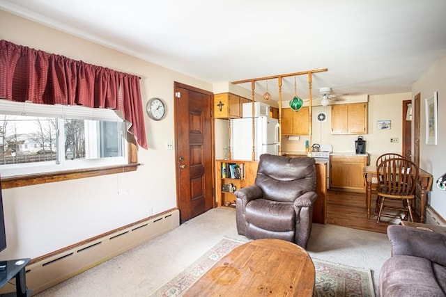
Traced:
<path fill-rule="evenodd" d="M 180 224 L 179 214 L 178 209 L 172 209 L 32 259 L 26 266 L 26 287 L 32 290 L 32 294 L 37 294 L 141 243 L 174 230 Z M 15 287 L 5 289 L 15 291 Z"/>

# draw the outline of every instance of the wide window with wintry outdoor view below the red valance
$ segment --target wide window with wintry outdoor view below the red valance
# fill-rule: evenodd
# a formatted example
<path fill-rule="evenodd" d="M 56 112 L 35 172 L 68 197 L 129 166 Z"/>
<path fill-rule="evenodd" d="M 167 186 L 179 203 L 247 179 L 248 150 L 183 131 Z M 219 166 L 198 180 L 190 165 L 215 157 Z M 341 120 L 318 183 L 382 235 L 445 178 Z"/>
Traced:
<path fill-rule="evenodd" d="M 89 167 L 88 161 L 109 159 L 105 165 L 126 162 L 123 126 L 123 122 L 117 120 L 16 115 L 0 111 L 2 176 L 5 176 L 5 168 L 17 167 L 26 172 L 24 168 L 35 168 L 39 163 L 62 167 L 77 162 L 74 168 L 85 168 Z M 47 171 L 44 167 L 41 169 Z"/>

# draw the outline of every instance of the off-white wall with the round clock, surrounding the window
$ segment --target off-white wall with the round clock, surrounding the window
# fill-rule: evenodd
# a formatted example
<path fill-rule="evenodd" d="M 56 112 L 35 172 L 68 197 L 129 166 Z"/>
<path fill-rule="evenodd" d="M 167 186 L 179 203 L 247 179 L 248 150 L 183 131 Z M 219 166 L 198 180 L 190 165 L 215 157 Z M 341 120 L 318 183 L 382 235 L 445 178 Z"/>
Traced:
<path fill-rule="evenodd" d="M 149 149 L 139 148 L 136 172 L 3 190 L 8 248 L 0 259 L 45 255 L 176 207 L 175 151 L 165 149 L 166 141 L 174 141 L 174 81 L 212 91 L 210 83 L 3 10 L 0 39 L 138 75 L 144 108 L 151 97 L 167 104 L 159 122 L 145 114 Z"/>

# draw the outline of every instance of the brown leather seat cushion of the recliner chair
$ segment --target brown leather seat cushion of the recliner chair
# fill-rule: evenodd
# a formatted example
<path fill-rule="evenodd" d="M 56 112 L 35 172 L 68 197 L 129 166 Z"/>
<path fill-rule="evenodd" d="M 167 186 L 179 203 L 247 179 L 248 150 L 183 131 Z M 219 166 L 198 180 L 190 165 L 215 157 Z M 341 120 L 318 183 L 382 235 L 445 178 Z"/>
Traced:
<path fill-rule="evenodd" d="M 295 230 L 295 211 L 291 202 L 252 200 L 246 206 L 245 216 L 248 224 L 264 230 L 272 232 Z"/>

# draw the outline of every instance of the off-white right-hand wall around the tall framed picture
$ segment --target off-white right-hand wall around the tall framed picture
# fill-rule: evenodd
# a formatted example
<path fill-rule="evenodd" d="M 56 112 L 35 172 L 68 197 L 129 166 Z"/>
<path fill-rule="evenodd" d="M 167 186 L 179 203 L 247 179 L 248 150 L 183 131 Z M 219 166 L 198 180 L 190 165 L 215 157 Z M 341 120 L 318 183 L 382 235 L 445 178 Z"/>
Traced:
<path fill-rule="evenodd" d="M 440 216 L 446 218 L 446 191 L 440 191 L 435 182 L 446 172 L 446 54 L 434 63 L 429 70 L 412 86 L 415 96 L 421 94 L 420 121 L 420 167 L 433 175 L 432 191 L 429 193 L 429 204 Z M 426 145 L 426 116 L 424 99 L 438 92 L 438 145 Z"/>

